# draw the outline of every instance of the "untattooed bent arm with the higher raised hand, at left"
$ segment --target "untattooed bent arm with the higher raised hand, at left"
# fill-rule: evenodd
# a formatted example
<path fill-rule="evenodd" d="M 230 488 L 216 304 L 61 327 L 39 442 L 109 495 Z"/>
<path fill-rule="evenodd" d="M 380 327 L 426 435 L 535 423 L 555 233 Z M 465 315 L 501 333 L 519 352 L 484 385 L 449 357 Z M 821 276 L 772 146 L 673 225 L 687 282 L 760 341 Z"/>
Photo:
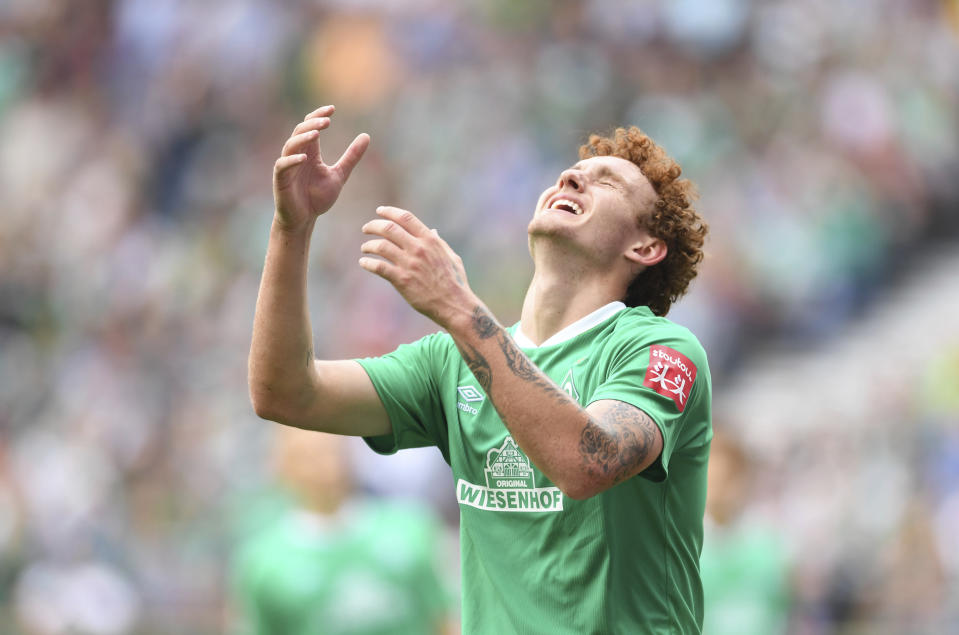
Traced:
<path fill-rule="evenodd" d="M 323 163 L 319 131 L 333 108 L 308 115 L 274 166 L 276 214 L 253 320 L 250 398 L 257 415 L 336 434 L 377 436 L 389 417 L 366 371 L 355 361 L 318 361 L 307 310 L 307 262 L 317 218 L 335 202 L 369 145 L 360 135 L 335 164 Z"/>

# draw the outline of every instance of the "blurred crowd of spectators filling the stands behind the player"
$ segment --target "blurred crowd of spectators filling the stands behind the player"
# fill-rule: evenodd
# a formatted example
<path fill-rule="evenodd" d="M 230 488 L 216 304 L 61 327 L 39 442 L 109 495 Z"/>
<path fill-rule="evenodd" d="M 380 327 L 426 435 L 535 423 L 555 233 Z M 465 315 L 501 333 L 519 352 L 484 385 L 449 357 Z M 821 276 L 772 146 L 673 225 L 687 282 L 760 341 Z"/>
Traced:
<path fill-rule="evenodd" d="M 438 228 L 501 321 L 518 319 L 537 196 L 589 132 L 616 125 L 639 125 L 699 186 L 708 257 L 670 317 L 703 341 L 717 394 L 757 351 L 842 340 L 959 235 L 955 0 L 0 2 L 0 624 L 235 623 L 233 554 L 273 482 L 274 429 L 246 390 L 272 164 L 327 103 L 324 157 L 358 132 L 372 145 L 314 237 L 325 358 L 434 330 L 356 265 L 379 204 Z M 740 488 L 714 534 L 772 523 L 769 540 L 745 541 L 766 555 L 743 556 L 768 556 L 782 583 L 763 628 L 959 624 L 959 553 L 942 548 L 942 527 L 959 534 L 959 371 L 948 355 L 911 368 L 942 408 L 897 393 L 868 415 L 898 436 L 871 439 L 862 423 L 842 452 L 818 453 L 830 437 L 789 411 L 775 444 L 717 413 L 730 464 L 751 464 L 759 486 Z M 888 388 L 855 396 L 887 403 Z M 841 411 L 816 412 L 843 426 Z M 910 425 L 920 419 L 937 423 Z M 438 453 L 413 456 L 358 461 L 360 489 L 425 500 L 455 535 Z M 892 484 L 890 469 L 869 472 L 883 460 Z M 767 478 L 803 470 L 821 487 Z M 880 519 L 869 540 L 810 539 L 836 507 L 815 498 L 823 474 L 863 481 L 854 491 Z M 914 505 L 874 504 L 888 497 L 873 499 L 873 477 Z M 807 534 L 776 530 L 790 508 L 808 511 Z M 810 544 L 831 545 L 821 566 L 794 567 Z"/>

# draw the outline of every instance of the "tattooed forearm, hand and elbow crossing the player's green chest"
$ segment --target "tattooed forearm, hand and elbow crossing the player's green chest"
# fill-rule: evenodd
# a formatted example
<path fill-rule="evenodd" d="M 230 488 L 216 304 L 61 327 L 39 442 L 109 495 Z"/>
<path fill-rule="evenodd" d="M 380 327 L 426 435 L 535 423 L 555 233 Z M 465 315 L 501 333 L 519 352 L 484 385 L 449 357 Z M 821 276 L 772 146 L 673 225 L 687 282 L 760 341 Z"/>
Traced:
<path fill-rule="evenodd" d="M 463 261 L 412 213 L 380 207 L 363 226 L 379 238 L 360 265 L 452 336 L 516 443 L 567 496 L 594 496 L 646 469 L 663 437 L 645 412 L 622 401 L 582 408 L 537 368 L 466 282 Z"/>

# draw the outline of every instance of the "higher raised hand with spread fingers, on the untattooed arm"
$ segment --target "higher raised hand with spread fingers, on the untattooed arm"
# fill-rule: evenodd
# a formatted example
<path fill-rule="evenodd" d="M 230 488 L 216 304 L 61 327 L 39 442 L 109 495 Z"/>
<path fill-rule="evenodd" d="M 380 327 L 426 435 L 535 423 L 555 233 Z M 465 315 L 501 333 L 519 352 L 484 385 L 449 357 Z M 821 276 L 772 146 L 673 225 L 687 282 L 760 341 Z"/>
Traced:
<path fill-rule="evenodd" d="M 317 108 L 297 124 L 273 166 L 275 220 L 283 229 L 302 229 L 326 213 L 370 145 L 370 136 L 360 134 L 336 163 L 325 163 L 320 131 L 330 126 L 333 111 L 333 106 Z"/>

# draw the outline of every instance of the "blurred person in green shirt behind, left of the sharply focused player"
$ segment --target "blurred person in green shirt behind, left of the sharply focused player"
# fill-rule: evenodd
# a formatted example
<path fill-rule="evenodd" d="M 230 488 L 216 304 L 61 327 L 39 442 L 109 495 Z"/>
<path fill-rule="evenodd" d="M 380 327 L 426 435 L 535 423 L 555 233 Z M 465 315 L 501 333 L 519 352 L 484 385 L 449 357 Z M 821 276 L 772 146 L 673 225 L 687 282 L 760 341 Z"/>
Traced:
<path fill-rule="evenodd" d="M 235 559 L 240 632 L 451 632 L 435 516 L 357 497 L 347 439 L 296 428 L 278 435 L 277 472 L 292 500 Z"/>

